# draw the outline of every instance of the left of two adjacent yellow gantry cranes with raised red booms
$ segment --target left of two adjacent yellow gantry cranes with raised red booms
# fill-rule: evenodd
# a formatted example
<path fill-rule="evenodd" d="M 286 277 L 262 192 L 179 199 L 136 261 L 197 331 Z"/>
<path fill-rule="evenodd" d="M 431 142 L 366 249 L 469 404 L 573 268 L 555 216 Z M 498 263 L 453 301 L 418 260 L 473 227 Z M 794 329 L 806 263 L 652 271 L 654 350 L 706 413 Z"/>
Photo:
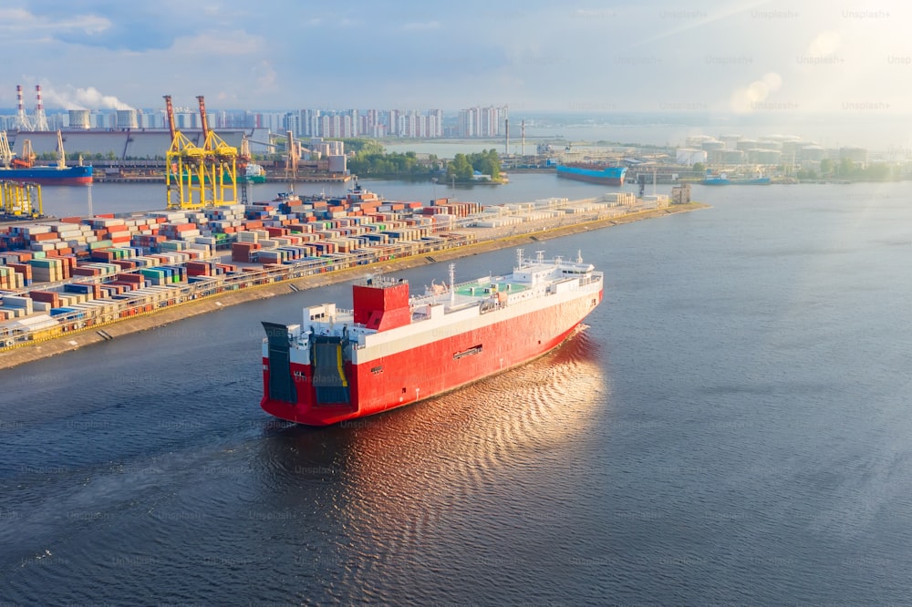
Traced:
<path fill-rule="evenodd" d="M 164 98 L 168 127 L 171 129 L 171 148 L 165 155 L 168 164 L 165 170 L 168 209 L 200 209 L 206 206 L 206 152 L 177 129 L 171 95 Z M 175 191 L 179 195 L 177 202 L 171 200 Z"/>

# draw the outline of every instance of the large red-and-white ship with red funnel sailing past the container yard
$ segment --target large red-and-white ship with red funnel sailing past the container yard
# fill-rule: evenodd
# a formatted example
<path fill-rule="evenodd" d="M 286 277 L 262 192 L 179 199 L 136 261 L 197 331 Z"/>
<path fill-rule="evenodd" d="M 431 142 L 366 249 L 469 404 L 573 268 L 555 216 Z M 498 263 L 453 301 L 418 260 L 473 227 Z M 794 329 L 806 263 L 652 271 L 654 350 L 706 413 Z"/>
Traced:
<path fill-rule="evenodd" d="M 261 406 L 327 426 L 409 405 L 522 365 L 560 345 L 602 301 L 603 273 L 577 258 L 517 252 L 512 273 L 466 283 L 370 277 L 353 309 L 320 304 L 301 324 L 264 322 Z"/>

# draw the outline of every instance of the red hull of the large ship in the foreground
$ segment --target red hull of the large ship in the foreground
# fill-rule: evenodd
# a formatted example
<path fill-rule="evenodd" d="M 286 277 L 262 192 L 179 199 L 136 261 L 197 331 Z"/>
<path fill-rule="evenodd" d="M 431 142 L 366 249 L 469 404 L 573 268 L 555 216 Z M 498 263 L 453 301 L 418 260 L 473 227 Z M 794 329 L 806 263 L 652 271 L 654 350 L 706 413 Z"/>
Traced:
<path fill-rule="evenodd" d="M 602 290 L 577 293 L 557 304 L 511 311 L 490 316 L 481 324 L 457 334 L 441 327 L 434 333 L 448 334 L 363 363 L 340 362 L 348 379 L 349 405 L 316 405 L 312 365 L 289 364 L 294 378 L 296 402 L 269 396 L 270 359 L 264 355 L 264 411 L 282 419 L 310 426 L 326 426 L 378 414 L 449 392 L 496 375 L 546 354 L 572 334 L 602 300 Z M 502 314 L 503 313 L 503 314 Z M 474 324 L 474 323 L 473 323 Z M 408 343 L 408 341 L 406 342 Z"/>

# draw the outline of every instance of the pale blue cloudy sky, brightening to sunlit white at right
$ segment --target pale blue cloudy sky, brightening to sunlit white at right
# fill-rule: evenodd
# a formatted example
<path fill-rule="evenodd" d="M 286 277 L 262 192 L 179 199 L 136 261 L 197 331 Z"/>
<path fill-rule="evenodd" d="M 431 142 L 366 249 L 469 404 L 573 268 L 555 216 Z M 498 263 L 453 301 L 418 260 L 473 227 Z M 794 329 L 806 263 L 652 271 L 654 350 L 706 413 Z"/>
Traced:
<path fill-rule="evenodd" d="M 912 106 L 912 8 L 884 2 L 20 0 L 0 8 L 34 108 L 710 111 Z"/>

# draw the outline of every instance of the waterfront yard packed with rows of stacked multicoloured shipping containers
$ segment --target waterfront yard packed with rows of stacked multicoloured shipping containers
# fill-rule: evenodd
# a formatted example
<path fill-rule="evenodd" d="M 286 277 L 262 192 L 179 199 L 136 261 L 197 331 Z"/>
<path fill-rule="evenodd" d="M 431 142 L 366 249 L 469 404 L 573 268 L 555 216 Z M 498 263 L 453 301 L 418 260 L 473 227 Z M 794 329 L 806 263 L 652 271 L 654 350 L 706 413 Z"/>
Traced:
<path fill-rule="evenodd" d="M 346 198 L 11 222 L 0 226 L 0 352 L 223 293 L 389 262 L 667 200 L 547 199 L 482 207 Z"/>

